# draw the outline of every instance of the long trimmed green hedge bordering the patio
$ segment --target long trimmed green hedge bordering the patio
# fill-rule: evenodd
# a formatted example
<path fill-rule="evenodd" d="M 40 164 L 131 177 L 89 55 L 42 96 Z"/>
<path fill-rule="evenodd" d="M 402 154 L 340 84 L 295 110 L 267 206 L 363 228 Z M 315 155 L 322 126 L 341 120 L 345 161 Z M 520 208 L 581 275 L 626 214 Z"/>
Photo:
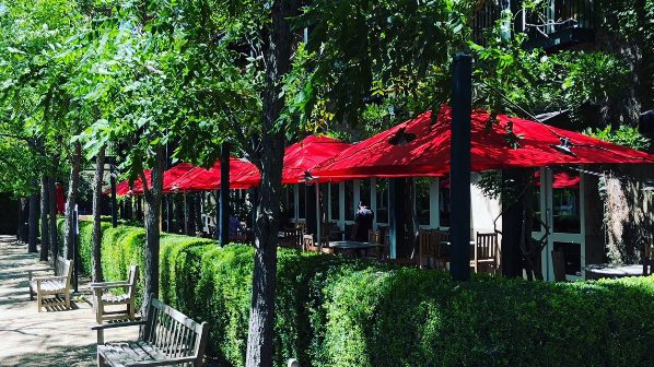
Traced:
<path fill-rule="evenodd" d="M 144 238 L 105 229 L 108 281 L 142 269 Z M 160 297 L 211 324 L 209 355 L 244 366 L 254 249 L 177 235 L 161 246 Z M 456 283 L 443 271 L 279 249 L 273 364 L 654 366 L 652 305 L 653 277 Z"/>

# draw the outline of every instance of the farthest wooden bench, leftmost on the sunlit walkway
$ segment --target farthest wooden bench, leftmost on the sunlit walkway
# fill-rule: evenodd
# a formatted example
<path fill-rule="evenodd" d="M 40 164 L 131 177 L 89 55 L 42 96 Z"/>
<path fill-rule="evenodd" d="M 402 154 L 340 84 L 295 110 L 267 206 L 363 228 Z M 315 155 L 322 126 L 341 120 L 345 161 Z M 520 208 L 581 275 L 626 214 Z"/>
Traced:
<path fill-rule="evenodd" d="M 36 303 L 38 304 L 38 311 L 40 312 L 44 306 L 66 306 L 70 309 L 70 280 L 72 279 L 72 260 L 66 260 L 61 257 L 57 258 L 56 271 L 57 275 L 33 277 L 34 272 L 52 271 L 52 269 L 30 270 L 27 273 L 30 280 L 30 299 L 34 299 L 36 295 Z M 43 296 L 58 294 L 65 295 L 65 300 L 48 301 L 44 304 Z"/>

